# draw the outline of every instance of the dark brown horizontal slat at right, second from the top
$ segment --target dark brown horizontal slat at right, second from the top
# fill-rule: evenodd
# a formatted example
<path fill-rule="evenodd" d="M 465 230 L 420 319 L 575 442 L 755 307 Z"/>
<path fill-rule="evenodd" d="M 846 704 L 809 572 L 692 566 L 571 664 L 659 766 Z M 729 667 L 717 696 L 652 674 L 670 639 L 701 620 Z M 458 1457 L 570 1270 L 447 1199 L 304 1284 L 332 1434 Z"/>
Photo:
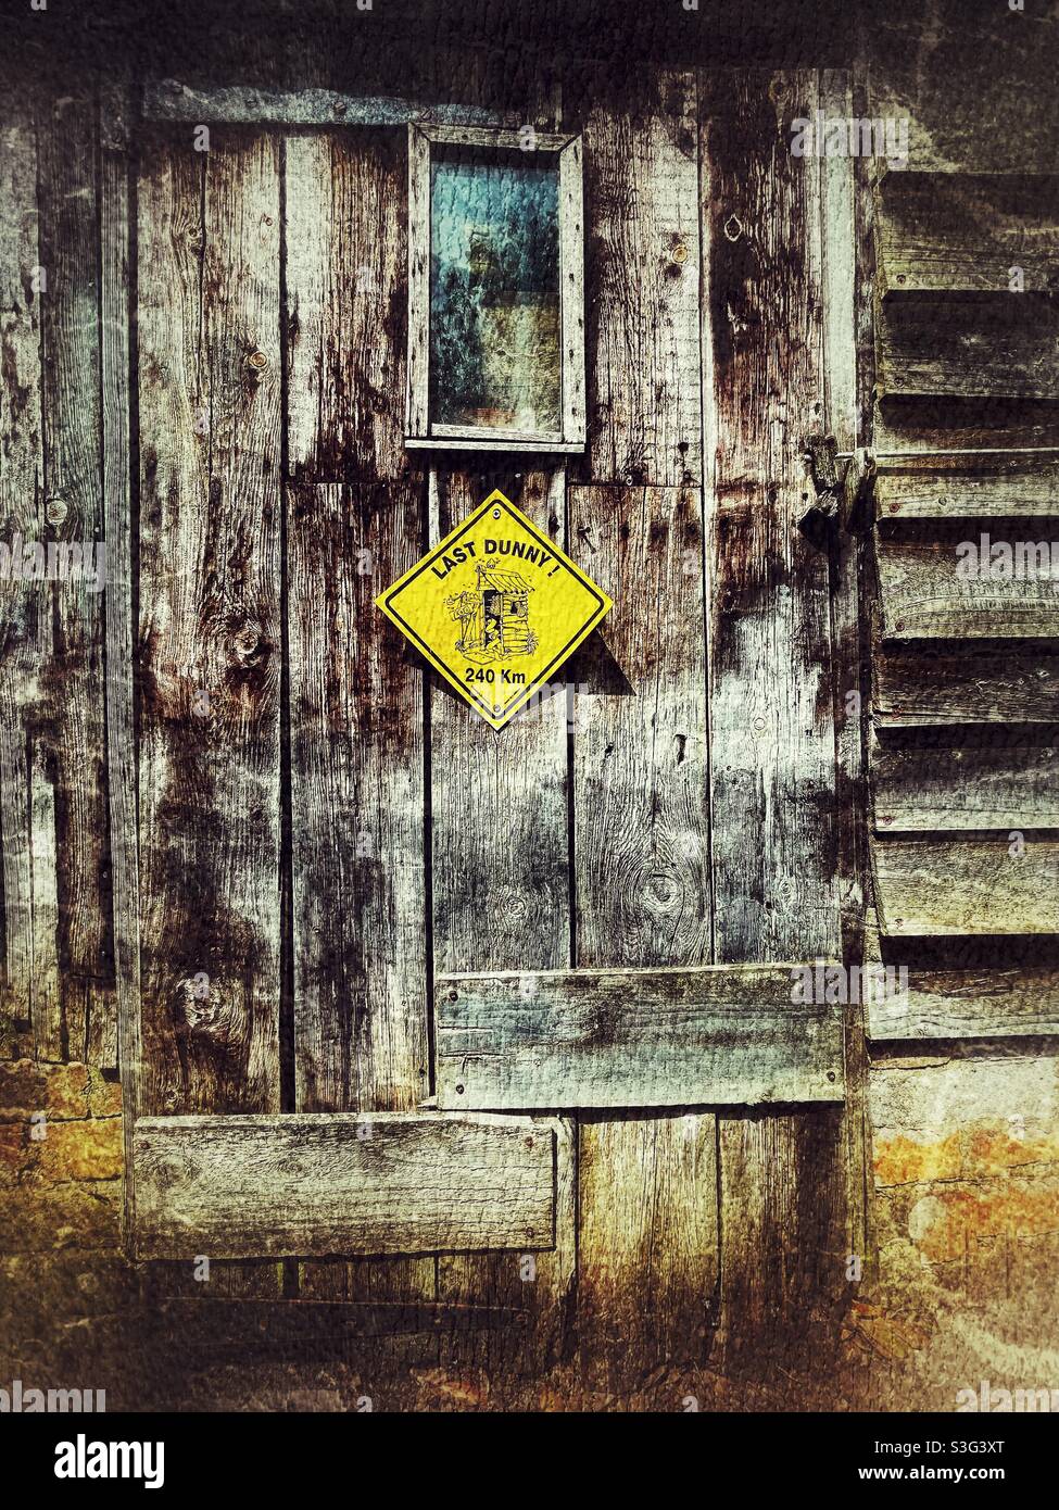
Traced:
<path fill-rule="evenodd" d="M 879 319 L 879 391 L 1054 403 L 1057 338 L 1059 310 L 1042 294 L 896 294 Z"/>

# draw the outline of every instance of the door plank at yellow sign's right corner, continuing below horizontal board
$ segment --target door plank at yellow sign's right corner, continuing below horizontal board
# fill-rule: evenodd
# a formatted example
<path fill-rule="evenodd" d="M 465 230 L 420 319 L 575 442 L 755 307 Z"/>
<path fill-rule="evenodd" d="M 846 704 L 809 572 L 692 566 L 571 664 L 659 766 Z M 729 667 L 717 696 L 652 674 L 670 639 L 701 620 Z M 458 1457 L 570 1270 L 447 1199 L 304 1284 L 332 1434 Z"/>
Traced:
<path fill-rule="evenodd" d="M 571 488 L 580 565 L 628 692 L 585 699 L 574 740 L 577 965 L 710 959 L 709 749 L 698 488 Z M 718 1277 L 713 1113 L 585 1116 L 579 1321 L 631 1388 L 701 1361 Z"/>

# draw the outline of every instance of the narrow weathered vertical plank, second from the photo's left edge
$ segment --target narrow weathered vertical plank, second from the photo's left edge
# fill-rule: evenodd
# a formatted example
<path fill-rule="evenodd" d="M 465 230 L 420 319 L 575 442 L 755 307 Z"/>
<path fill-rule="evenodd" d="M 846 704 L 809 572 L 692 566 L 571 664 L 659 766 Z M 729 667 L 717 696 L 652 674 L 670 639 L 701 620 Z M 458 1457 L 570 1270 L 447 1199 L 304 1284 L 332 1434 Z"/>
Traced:
<path fill-rule="evenodd" d="M 100 243 L 95 97 L 59 95 L 38 118 L 44 417 L 44 533 L 92 557 L 103 542 Z M 106 565 L 104 565 L 106 571 Z M 39 710 L 54 757 L 62 1043 L 116 1060 L 106 775 L 104 593 L 73 574 L 39 584 L 57 672 Z M 60 861 L 59 861 L 60 856 Z"/>

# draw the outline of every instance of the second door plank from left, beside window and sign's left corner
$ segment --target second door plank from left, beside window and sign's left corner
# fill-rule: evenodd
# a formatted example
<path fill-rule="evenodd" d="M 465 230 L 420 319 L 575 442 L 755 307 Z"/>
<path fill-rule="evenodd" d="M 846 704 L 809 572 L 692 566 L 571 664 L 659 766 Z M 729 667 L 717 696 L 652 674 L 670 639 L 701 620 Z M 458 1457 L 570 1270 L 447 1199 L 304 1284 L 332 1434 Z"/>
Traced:
<path fill-rule="evenodd" d="M 409 1111 L 431 1090 L 423 683 L 375 607 L 423 551 L 425 477 L 403 445 L 405 172 L 393 131 L 286 140 L 299 1111 Z M 301 1290 L 434 1300 L 435 1264 L 305 1264 Z M 425 1347 L 437 1356 L 432 1338 L 406 1351 Z M 379 1367 L 397 1350 L 379 1345 Z"/>

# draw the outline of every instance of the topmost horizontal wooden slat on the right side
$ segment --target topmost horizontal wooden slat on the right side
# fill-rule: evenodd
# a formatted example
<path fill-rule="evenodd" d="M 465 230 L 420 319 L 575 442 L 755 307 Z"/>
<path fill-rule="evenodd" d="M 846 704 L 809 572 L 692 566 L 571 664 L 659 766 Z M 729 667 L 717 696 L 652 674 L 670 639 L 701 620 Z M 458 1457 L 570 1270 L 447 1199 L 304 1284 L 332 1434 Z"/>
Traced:
<path fill-rule="evenodd" d="M 1056 174 L 887 174 L 879 201 L 882 293 L 1059 287 Z"/>

